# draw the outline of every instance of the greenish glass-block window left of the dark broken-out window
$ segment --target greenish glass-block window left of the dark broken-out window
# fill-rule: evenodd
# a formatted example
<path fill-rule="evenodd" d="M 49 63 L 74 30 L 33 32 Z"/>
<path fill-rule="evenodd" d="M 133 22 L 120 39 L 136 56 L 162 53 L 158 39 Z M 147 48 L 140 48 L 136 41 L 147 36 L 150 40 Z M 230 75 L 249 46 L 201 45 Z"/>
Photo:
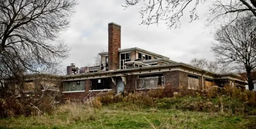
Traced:
<path fill-rule="evenodd" d="M 85 81 L 63 82 L 63 92 L 84 91 Z"/>

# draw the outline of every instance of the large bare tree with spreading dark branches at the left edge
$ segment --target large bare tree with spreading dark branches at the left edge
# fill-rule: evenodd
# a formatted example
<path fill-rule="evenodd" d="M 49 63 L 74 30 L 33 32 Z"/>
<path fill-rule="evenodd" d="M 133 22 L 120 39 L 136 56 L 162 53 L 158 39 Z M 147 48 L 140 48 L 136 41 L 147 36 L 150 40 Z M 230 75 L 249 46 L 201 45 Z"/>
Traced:
<path fill-rule="evenodd" d="M 1 0 L 0 78 L 18 80 L 24 74 L 47 72 L 66 58 L 69 47 L 56 38 L 69 27 L 76 4 L 75 0 Z"/>

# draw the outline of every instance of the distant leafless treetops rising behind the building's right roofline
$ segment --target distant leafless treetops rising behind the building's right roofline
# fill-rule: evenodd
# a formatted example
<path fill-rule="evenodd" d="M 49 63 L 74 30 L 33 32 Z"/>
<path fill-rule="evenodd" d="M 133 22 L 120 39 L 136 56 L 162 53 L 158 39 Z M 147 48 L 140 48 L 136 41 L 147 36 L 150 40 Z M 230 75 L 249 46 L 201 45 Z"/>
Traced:
<path fill-rule="evenodd" d="M 216 60 L 209 61 L 205 58 L 193 58 L 192 60 L 190 60 L 190 65 L 216 73 L 228 73 L 234 70 L 234 66 L 221 64 Z"/>

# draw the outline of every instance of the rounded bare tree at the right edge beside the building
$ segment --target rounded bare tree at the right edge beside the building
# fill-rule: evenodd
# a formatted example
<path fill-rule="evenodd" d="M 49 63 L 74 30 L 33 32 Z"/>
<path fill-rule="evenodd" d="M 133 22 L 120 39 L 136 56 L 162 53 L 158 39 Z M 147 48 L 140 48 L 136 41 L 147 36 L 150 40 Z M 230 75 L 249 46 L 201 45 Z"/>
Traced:
<path fill-rule="evenodd" d="M 256 17 L 246 15 L 239 18 L 235 24 L 221 27 L 215 33 L 211 47 L 216 58 L 225 64 L 234 63 L 242 66 L 247 72 L 249 90 L 254 87 L 251 77 L 256 67 Z"/>

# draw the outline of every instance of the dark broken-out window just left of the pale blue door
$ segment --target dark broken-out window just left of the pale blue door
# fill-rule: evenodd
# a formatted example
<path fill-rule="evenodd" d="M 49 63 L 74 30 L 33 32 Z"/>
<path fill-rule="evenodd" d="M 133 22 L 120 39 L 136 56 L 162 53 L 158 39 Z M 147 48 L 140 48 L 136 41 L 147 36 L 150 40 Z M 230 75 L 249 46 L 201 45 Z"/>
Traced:
<path fill-rule="evenodd" d="M 111 78 L 91 79 L 90 90 L 111 89 Z"/>

